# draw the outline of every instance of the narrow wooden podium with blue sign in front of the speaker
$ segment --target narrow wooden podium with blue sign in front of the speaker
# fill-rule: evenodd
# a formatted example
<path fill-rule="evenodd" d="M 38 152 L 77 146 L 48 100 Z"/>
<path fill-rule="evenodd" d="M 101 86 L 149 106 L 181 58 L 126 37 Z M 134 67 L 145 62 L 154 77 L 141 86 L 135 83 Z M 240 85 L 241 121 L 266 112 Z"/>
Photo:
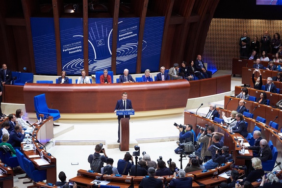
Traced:
<path fill-rule="evenodd" d="M 120 150 L 129 151 L 129 118 L 126 115 L 134 115 L 134 109 L 117 110 L 117 115 L 123 115 L 120 121 Z"/>

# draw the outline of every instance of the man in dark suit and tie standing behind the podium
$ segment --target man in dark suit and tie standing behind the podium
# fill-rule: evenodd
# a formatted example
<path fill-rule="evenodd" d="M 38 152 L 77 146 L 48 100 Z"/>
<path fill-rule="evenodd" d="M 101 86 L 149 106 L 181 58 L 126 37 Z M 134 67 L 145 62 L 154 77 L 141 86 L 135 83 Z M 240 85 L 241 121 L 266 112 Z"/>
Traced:
<path fill-rule="evenodd" d="M 128 99 L 128 94 L 126 92 L 123 92 L 122 99 L 118 100 L 114 113 L 116 113 L 117 110 L 121 110 L 121 109 L 133 109 L 131 101 Z M 118 143 L 120 143 L 120 120 L 123 117 L 124 117 L 123 115 L 118 115 L 118 122 L 119 122 Z M 128 117 L 130 119 L 130 115 L 126 115 L 125 117 Z"/>

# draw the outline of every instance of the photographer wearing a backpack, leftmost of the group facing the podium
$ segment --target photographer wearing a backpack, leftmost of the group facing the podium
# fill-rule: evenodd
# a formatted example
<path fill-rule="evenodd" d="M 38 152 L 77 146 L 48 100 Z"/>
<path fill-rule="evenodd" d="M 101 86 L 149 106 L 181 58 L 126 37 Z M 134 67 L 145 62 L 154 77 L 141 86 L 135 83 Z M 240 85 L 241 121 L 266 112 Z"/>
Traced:
<path fill-rule="evenodd" d="M 100 153 L 103 153 L 104 155 L 100 155 Z M 107 159 L 108 157 L 105 149 L 103 148 L 103 144 L 97 144 L 95 146 L 95 153 L 88 156 L 88 162 L 90 163 L 91 170 L 101 173 L 101 168 L 103 167 L 104 162 L 107 162 Z"/>

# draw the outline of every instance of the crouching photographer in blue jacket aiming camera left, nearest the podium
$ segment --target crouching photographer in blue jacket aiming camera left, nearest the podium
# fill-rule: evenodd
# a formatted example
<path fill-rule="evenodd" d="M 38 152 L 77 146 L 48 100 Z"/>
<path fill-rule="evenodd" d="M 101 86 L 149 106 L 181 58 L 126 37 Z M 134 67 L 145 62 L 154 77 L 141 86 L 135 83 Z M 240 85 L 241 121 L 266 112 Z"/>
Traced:
<path fill-rule="evenodd" d="M 190 124 L 188 124 L 188 125 L 181 125 L 180 124 L 180 125 L 177 125 L 176 128 L 179 129 L 179 142 L 180 143 L 186 143 L 186 142 L 190 142 L 190 141 L 194 143 L 194 134 L 191 131 L 193 129 L 192 125 L 190 125 Z M 174 152 L 176 154 L 180 154 L 179 149 L 181 149 L 180 146 L 177 147 L 174 150 Z"/>

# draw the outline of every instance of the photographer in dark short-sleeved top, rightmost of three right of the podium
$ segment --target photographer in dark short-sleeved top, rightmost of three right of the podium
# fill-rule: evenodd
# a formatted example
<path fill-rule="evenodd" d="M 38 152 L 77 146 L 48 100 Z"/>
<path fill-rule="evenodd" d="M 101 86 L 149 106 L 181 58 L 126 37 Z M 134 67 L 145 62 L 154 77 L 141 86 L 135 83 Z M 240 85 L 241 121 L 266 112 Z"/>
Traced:
<path fill-rule="evenodd" d="M 216 157 L 218 156 L 216 155 L 216 150 L 218 150 L 218 152 L 220 152 L 221 154 L 221 148 L 223 144 L 224 144 L 224 134 L 214 132 L 212 137 L 210 137 L 207 146 L 208 147 L 207 150 L 211 152 L 211 159 L 206 161 L 206 163 L 204 164 L 206 170 L 213 169 L 218 166 L 218 162 L 215 162 L 213 160 L 215 160 Z"/>

